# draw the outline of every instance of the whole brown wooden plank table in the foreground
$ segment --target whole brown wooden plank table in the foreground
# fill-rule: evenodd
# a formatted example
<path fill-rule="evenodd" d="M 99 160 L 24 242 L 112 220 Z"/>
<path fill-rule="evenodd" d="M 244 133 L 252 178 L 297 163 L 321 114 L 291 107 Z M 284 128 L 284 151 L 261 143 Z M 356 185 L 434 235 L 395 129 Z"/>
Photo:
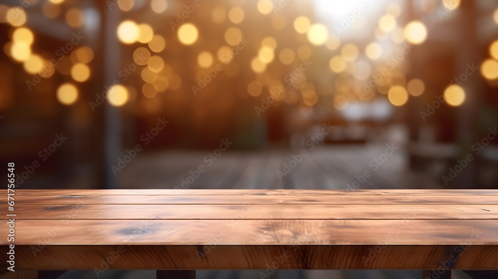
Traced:
<path fill-rule="evenodd" d="M 448 270 L 498 270 L 498 190 L 17 190 L 14 211 L 6 193 L 0 203 L 2 257 L 15 218 L 16 272 L 2 274 L 12 278 L 392 269 L 443 279 Z"/>

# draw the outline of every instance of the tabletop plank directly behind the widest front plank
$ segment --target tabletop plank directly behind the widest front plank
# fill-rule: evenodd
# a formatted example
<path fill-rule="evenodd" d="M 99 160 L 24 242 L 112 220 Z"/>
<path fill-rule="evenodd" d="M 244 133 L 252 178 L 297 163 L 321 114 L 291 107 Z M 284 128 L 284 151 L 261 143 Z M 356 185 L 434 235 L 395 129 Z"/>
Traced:
<path fill-rule="evenodd" d="M 18 204 L 16 220 L 498 219 L 496 204 Z M 9 217 L 0 215 L 0 219 Z"/>

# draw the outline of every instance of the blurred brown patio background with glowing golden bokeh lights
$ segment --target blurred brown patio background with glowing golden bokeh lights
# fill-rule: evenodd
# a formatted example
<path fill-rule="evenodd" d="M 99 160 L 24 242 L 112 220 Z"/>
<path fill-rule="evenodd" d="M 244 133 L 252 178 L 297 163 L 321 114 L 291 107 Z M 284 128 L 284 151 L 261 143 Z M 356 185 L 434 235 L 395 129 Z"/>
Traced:
<path fill-rule="evenodd" d="M 21 189 L 498 187 L 495 0 L 3 0 L 0 30 Z"/>

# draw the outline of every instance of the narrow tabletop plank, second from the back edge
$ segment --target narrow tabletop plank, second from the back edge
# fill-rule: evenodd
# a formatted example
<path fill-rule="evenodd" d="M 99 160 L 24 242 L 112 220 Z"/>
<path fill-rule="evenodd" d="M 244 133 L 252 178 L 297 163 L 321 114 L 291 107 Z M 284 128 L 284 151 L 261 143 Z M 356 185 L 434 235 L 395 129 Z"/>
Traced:
<path fill-rule="evenodd" d="M 5 198 L 0 204 L 5 204 Z M 493 195 L 118 195 L 23 196 L 16 204 L 498 204 Z M 0 214 L 1 215 L 1 214 Z"/>

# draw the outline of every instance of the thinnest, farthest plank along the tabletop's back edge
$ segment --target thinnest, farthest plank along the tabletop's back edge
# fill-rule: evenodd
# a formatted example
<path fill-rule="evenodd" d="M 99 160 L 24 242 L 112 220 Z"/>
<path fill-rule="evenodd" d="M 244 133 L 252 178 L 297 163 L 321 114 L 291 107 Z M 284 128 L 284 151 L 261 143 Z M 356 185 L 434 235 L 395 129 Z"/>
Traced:
<path fill-rule="evenodd" d="M 2 192 L 3 191 L 3 192 Z M 6 193 L 5 189 L 0 190 Z M 498 195 L 495 189 L 19 189 L 16 195 Z"/>

